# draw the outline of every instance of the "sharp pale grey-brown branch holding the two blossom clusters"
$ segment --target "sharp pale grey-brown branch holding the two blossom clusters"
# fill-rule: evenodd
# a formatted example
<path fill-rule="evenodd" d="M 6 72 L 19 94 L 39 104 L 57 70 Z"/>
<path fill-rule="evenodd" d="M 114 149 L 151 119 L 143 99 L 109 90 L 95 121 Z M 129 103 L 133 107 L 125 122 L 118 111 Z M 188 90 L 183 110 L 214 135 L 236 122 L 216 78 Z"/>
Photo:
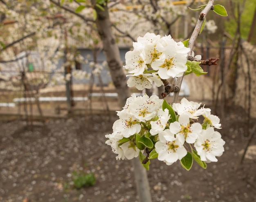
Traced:
<path fill-rule="evenodd" d="M 189 39 L 189 44 L 188 44 L 188 47 L 190 48 L 189 56 L 191 56 L 191 54 L 192 54 L 192 50 L 193 50 L 193 47 L 195 45 L 195 40 L 197 39 L 197 37 L 200 33 L 200 29 L 201 29 L 202 24 L 204 22 L 205 16 L 207 15 L 207 13 L 210 10 L 213 9 L 213 3 L 214 3 L 214 0 L 209 0 L 207 5 L 202 10 L 202 12 L 199 14 L 198 21 L 195 25 L 195 29 L 194 29 L 194 31 L 191 35 L 191 38 Z M 177 81 L 176 81 L 175 85 L 179 88 L 181 87 L 183 77 L 184 77 L 184 74 L 183 74 L 183 76 L 180 76 L 179 78 L 177 78 Z M 178 97 L 179 97 L 179 92 L 174 92 L 173 103 L 177 103 Z"/>

